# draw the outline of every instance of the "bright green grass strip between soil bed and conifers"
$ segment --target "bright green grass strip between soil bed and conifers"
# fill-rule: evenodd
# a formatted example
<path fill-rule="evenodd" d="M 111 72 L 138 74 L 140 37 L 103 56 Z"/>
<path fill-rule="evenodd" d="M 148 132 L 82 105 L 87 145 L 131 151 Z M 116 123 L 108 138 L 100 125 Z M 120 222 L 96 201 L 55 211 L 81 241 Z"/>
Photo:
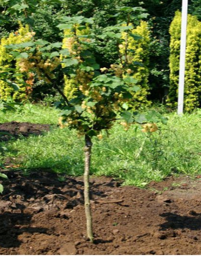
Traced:
<path fill-rule="evenodd" d="M 0 114 L 0 123 L 28 121 L 56 124 L 58 111 L 39 105 L 25 105 L 17 112 Z M 116 124 L 110 136 L 93 139 L 91 174 L 121 178 L 124 185 L 146 186 L 167 175 L 194 176 L 201 171 L 201 110 L 178 117 L 167 115 L 167 125 L 146 137 L 139 125 L 128 132 Z M 48 169 L 68 175 L 83 174 L 83 138 L 75 131 L 54 128 L 40 136 L 20 137 L 2 143 L 7 151 L 0 160 L 15 158 L 24 172 Z"/>

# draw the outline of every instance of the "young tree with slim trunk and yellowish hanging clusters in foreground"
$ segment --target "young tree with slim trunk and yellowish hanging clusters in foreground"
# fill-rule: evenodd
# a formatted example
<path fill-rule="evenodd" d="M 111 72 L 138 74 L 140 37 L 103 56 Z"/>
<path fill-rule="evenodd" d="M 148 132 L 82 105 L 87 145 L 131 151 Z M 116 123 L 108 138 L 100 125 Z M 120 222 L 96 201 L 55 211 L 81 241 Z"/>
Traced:
<path fill-rule="evenodd" d="M 134 57 L 128 57 L 128 36 L 135 40 L 139 37 L 132 33 L 132 21 L 141 17 L 143 9 L 139 7 L 121 7 L 118 16 L 121 23 L 107 27 L 101 38 L 110 38 L 117 41 L 119 59 L 110 67 L 100 67 L 94 54 L 94 44 L 99 35 L 92 34 L 90 25 L 92 19 L 83 16 L 63 17 L 61 30 L 69 30 L 62 43 L 49 43 L 42 39 L 21 44 L 6 46 L 12 52 L 24 53 L 22 62 L 25 63 L 26 72 L 32 71 L 52 84 L 62 95 L 63 100 L 56 104 L 62 109 L 60 125 L 69 129 L 76 129 L 79 135 L 84 136 L 85 168 L 84 168 L 84 204 L 87 218 L 87 235 L 93 242 L 92 215 L 89 196 L 89 174 L 91 164 L 92 138 L 102 138 L 102 131 L 108 131 L 114 122 L 119 121 L 127 131 L 133 123 L 147 123 L 146 132 L 157 130 L 156 122 L 166 122 L 160 114 L 149 111 L 139 114 L 132 111 L 133 93 L 139 90 L 134 78 Z M 81 31 L 85 31 L 81 33 Z M 87 32 L 86 32 L 87 31 Z M 124 36 L 122 36 L 124 33 Z M 125 43 L 124 43 L 125 42 Z M 124 47 L 123 53 L 120 49 Z M 15 55 L 15 53 L 14 53 Z M 59 57 L 61 56 L 61 60 Z M 61 69 L 66 79 L 73 80 L 76 87 L 70 98 L 61 91 L 55 77 L 56 70 Z"/>

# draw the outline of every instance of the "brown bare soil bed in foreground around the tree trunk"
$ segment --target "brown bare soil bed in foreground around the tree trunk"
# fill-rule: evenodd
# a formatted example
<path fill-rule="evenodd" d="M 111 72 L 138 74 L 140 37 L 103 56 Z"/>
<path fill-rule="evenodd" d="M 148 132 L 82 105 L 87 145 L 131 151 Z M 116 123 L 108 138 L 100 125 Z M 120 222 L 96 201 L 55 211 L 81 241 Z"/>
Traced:
<path fill-rule="evenodd" d="M 19 131 L 19 130 L 18 130 Z M 201 254 L 201 176 L 167 177 L 147 189 L 94 177 L 95 242 L 85 233 L 82 177 L 59 181 L 38 170 L 5 171 L 0 196 L 0 253 Z"/>

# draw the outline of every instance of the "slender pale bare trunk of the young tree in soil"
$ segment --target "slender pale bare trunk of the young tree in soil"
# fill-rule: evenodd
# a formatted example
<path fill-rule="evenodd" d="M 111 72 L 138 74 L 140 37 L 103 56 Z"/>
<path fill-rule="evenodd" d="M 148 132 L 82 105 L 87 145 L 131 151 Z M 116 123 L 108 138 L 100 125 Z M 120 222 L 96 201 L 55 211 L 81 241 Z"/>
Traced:
<path fill-rule="evenodd" d="M 84 208 L 87 219 L 87 236 L 93 242 L 92 214 L 90 205 L 90 186 L 89 186 L 89 171 L 91 161 L 92 141 L 88 135 L 85 135 L 85 165 L 84 165 Z"/>

